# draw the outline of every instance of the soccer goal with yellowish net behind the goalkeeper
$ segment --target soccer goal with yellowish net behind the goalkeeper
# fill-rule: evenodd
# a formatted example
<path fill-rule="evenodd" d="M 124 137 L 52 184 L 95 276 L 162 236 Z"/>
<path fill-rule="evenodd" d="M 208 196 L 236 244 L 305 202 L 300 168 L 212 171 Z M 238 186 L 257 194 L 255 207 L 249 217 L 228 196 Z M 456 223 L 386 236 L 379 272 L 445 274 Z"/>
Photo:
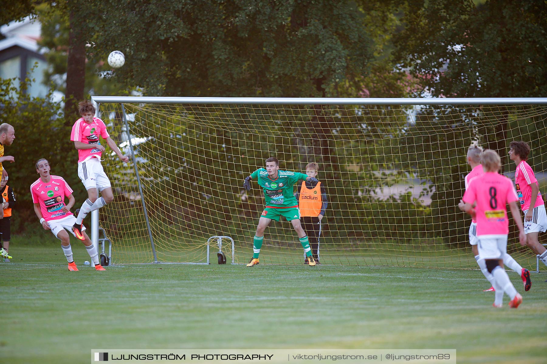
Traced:
<path fill-rule="evenodd" d="M 509 142 L 528 142 L 528 163 L 541 192 L 547 184 L 547 106 L 541 104 L 94 100 L 112 138 L 132 156 L 124 165 L 112 151 L 104 153 L 115 199 L 101 208 L 100 224 L 112 241 L 114 264 L 205 263 L 212 236 L 234 241 L 233 251 L 223 242 L 228 262 L 232 253 L 236 263 L 247 262 L 265 201 L 255 180 L 248 192 L 242 183 L 270 157 L 277 157 L 280 170 L 303 173 L 307 163 L 318 163 L 328 198 L 319 257 L 331 265 L 476 267 L 468 243 L 470 218 L 457 207 L 472 144 L 496 150 L 503 173 L 513 178 Z M 519 246 L 512 222 L 510 230 L 508 252 L 535 268 L 536 256 Z M 215 264 L 217 251 L 213 240 L 209 254 Z M 260 264 L 302 264 L 303 256 L 290 222 L 272 221 Z"/>

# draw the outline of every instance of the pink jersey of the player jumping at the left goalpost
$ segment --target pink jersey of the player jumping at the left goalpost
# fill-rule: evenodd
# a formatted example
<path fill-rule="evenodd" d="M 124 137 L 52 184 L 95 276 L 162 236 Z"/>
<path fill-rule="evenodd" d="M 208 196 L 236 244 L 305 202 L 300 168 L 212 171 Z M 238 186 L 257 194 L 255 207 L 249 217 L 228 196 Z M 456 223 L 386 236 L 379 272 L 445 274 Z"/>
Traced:
<path fill-rule="evenodd" d="M 81 141 L 86 144 L 98 144 L 99 136 L 102 136 L 103 139 L 108 138 L 110 135 L 106 131 L 106 125 L 103 121 L 94 117 L 93 122 L 88 124 L 85 122 L 83 117 L 80 117 L 72 126 L 72 134 L 70 140 L 72 141 Z M 79 149 L 78 150 L 78 163 L 84 162 L 84 160 L 91 159 L 93 157 L 101 160 L 102 152 L 98 148 L 91 149 Z"/>

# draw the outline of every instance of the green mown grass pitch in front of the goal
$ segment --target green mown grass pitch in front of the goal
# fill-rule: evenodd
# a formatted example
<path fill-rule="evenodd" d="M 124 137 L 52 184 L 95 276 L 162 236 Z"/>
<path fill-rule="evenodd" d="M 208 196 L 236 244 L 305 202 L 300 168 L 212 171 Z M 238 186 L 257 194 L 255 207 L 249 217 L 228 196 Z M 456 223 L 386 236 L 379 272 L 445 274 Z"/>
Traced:
<path fill-rule="evenodd" d="M 45 235 L 40 235 L 45 238 Z M 48 239 L 49 239 L 48 235 Z M 457 349 L 458 363 L 545 363 L 547 274 L 494 309 L 478 270 L 125 265 L 16 237 L 0 264 L 0 363 L 83 363 L 90 349 Z"/>

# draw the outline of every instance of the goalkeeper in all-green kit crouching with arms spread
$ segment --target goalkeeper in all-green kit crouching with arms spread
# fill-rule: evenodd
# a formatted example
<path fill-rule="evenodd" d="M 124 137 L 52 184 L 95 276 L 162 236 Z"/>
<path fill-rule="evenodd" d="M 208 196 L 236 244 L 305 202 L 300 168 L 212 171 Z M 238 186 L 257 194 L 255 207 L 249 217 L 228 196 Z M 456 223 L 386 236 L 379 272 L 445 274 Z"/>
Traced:
<path fill-rule="evenodd" d="M 250 176 L 245 178 L 243 187 L 246 190 L 251 189 L 251 180 L 256 179 L 259 186 L 264 189 L 264 197 L 266 199 L 266 207 L 258 220 L 257 232 L 253 240 L 253 258 L 249 260 L 248 267 L 259 264 L 258 255 L 264 240 L 264 230 L 271 220 L 279 221 L 281 216 L 284 216 L 291 224 L 300 238 L 300 243 L 304 247 L 306 260 L 310 266 L 315 266 L 316 262 L 313 259 L 310 242 L 300 225 L 300 209 L 298 202 L 293 195 L 293 186 L 298 181 L 307 181 L 315 186 L 317 178 L 308 177 L 300 172 L 280 171 L 279 161 L 275 157 L 266 159 L 266 169 L 259 168 Z"/>

